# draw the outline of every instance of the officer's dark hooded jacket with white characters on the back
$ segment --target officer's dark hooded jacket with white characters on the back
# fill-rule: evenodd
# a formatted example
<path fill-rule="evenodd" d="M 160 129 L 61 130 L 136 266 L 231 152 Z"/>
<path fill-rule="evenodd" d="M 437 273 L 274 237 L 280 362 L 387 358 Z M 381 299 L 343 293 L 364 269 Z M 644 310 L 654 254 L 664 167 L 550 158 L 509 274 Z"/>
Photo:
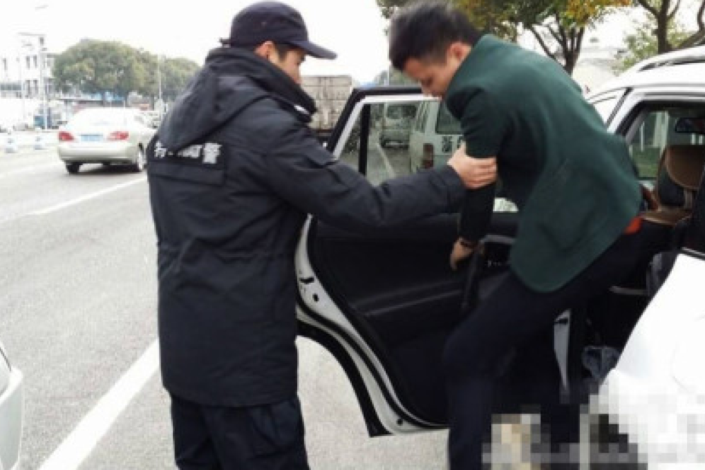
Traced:
<path fill-rule="evenodd" d="M 310 97 L 249 51 L 215 49 L 147 149 L 165 388 L 202 404 L 295 394 L 294 254 L 307 214 L 369 230 L 462 201 L 453 168 L 373 187 L 309 130 Z"/>

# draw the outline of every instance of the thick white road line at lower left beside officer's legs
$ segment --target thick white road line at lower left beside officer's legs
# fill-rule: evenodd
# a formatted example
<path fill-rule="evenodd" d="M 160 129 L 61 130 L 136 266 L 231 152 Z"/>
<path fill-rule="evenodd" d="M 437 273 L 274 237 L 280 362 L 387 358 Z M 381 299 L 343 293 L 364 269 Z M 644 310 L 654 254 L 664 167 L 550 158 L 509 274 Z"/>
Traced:
<path fill-rule="evenodd" d="M 140 359 L 125 372 L 39 470 L 76 470 L 111 428 L 135 395 L 159 369 L 159 345 L 154 340 Z"/>

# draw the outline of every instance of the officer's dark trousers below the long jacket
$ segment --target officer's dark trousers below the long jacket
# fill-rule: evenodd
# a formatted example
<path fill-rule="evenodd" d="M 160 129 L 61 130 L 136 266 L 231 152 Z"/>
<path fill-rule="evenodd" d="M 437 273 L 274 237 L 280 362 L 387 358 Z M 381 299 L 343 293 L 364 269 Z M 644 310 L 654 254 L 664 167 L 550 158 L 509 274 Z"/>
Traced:
<path fill-rule="evenodd" d="M 297 397 L 256 407 L 211 407 L 171 395 L 179 470 L 309 470 Z"/>

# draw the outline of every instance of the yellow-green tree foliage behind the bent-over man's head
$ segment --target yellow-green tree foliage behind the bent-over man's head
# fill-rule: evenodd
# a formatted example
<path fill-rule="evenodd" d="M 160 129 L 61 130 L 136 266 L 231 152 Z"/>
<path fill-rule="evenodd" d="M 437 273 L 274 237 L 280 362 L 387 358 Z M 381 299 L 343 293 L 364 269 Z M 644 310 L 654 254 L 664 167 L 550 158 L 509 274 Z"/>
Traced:
<path fill-rule="evenodd" d="M 412 0 L 377 0 L 384 16 Z M 546 55 L 572 73 L 580 57 L 585 30 L 613 8 L 630 0 L 449 0 L 481 30 L 516 40 L 521 30 L 534 35 Z M 705 1 L 705 0 L 704 0 Z"/>

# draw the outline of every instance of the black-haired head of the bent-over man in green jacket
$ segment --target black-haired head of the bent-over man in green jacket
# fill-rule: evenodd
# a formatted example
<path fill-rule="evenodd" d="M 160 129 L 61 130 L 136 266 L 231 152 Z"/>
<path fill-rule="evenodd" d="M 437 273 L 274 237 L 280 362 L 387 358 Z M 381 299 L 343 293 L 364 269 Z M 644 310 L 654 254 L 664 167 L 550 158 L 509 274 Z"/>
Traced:
<path fill-rule="evenodd" d="M 448 2 L 418 1 L 393 16 L 389 58 L 419 82 L 424 94 L 442 98 L 481 36 L 465 13 Z"/>

